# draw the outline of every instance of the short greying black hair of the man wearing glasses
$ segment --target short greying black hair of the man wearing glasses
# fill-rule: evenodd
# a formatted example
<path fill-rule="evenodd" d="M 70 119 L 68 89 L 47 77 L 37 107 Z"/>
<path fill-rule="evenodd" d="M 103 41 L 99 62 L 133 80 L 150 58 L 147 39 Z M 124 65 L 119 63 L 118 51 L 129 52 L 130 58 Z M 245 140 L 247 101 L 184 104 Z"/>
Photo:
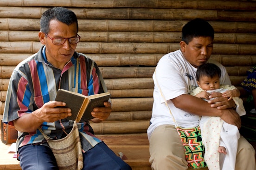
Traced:
<path fill-rule="evenodd" d="M 78 22 L 76 14 L 64 7 L 53 7 L 46 10 L 42 14 L 40 19 L 40 31 L 48 34 L 48 32 L 50 31 L 49 23 L 53 19 L 56 19 L 67 25 L 76 23 L 78 32 Z"/>

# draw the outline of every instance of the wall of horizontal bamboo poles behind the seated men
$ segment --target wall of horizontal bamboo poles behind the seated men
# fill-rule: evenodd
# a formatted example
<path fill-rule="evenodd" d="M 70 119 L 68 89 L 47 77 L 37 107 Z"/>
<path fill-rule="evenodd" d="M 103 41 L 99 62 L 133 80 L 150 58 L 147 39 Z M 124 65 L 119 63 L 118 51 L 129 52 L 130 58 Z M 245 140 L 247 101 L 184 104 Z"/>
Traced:
<path fill-rule="evenodd" d="M 246 71 L 256 65 L 255 0 L 0 0 L 0 114 L 13 68 L 41 47 L 39 18 L 52 6 L 77 14 L 77 51 L 100 66 L 112 95 L 108 120 L 92 124 L 96 134 L 147 131 L 154 68 L 179 49 L 182 26 L 193 18 L 214 27 L 212 58 L 233 85 L 242 90 Z"/>

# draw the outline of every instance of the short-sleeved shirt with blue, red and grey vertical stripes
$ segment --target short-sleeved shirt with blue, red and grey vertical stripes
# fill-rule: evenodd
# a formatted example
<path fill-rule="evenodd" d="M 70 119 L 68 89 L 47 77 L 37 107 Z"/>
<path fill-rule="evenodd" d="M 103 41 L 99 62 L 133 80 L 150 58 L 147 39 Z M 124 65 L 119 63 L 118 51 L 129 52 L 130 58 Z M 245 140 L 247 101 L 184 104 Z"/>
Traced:
<path fill-rule="evenodd" d="M 79 58 L 78 81 L 76 81 L 77 58 Z M 94 61 L 75 52 L 63 70 L 60 70 L 47 62 L 45 46 L 43 46 L 38 53 L 22 61 L 14 69 L 6 95 L 3 121 L 13 125 L 13 120 L 54 100 L 58 89 L 75 91 L 76 82 L 78 82 L 78 93 L 86 96 L 107 92 L 100 70 Z M 83 152 L 101 142 L 94 136 L 89 121 L 77 125 Z M 62 119 L 43 122 L 41 128 L 49 137 L 61 139 L 65 136 L 63 129 L 69 133 L 72 126 L 73 121 Z M 17 149 L 27 144 L 47 145 L 44 141 L 38 129 L 30 133 L 19 132 Z"/>

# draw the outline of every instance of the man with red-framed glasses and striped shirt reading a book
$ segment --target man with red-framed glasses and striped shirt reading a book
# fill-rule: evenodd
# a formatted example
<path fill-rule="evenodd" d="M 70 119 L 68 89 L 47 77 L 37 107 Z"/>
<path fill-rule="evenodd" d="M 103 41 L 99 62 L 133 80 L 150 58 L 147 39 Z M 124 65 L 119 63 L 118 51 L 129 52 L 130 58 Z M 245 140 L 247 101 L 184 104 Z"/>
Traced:
<path fill-rule="evenodd" d="M 54 101 L 58 89 L 85 96 L 107 92 L 96 63 L 75 51 L 80 40 L 77 16 L 64 7 L 42 14 L 39 51 L 22 61 L 13 71 L 3 116 L 5 123 L 19 131 L 18 159 L 23 170 L 58 170 L 55 157 L 40 133 L 52 139 L 68 134 L 74 121 L 67 119 L 71 109 Z M 94 108 L 91 121 L 108 118 L 111 103 Z M 103 141 L 94 136 L 89 121 L 77 123 L 83 151 L 83 170 L 131 170 Z"/>

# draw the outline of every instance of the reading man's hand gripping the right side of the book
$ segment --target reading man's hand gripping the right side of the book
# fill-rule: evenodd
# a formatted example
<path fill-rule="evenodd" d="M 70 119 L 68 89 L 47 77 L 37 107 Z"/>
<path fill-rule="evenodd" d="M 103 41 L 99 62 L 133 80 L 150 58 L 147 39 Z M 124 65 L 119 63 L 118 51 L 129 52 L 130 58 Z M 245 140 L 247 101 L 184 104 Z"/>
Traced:
<path fill-rule="evenodd" d="M 112 111 L 112 108 L 111 108 L 112 104 L 110 102 L 104 102 L 104 105 L 105 107 L 93 109 L 93 111 L 91 112 L 91 115 L 95 118 L 91 119 L 92 122 L 100 123 L 109 117 Z"/>

